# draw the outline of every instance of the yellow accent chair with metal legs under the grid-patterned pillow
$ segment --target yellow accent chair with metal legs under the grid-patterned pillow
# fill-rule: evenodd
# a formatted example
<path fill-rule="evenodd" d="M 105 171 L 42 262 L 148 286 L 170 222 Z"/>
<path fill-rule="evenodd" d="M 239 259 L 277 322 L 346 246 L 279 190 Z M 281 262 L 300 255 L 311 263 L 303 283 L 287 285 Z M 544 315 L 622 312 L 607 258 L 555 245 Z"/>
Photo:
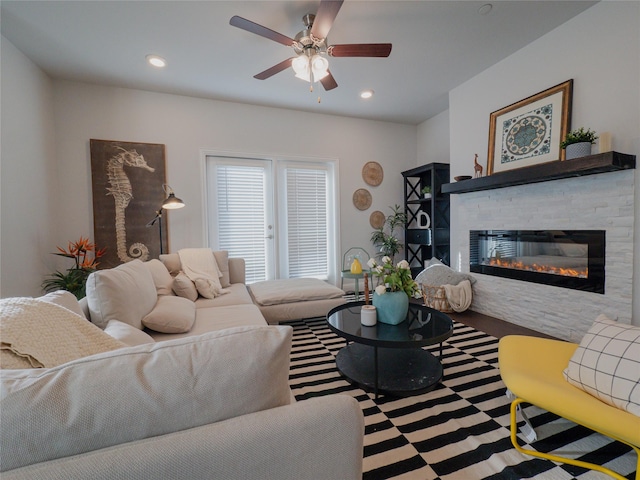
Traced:
<path fill-rule="evenodd" d="M 521 453 L 626 480 L 626 477 L 601 465 L 522 448 L 517 438 L 518 406 L 521 403 L 536 405 L 629 445 L 639 455 L 636 480 L 640 480 L 640 417 L 604 403 L 565 379 L 562 372 L 577 348 L 576 343 L 521 335 L 500 339 L 500 375 L 515 396 L 511 403 L 511 442 Z"/>

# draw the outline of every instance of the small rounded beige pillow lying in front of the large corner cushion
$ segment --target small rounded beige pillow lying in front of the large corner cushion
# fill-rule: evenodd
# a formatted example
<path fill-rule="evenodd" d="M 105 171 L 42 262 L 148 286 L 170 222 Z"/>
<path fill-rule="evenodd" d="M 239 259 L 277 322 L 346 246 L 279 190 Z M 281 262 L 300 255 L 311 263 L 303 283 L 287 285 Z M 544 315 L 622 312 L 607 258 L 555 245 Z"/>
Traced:
<path fill-rule="evenodd" d="M 153 307 L 142 319 L 142 324 L 163 333 L 186 333 L 196 321 L 196 305 L 191 300 L 182 297 L 158 297 Z"/>

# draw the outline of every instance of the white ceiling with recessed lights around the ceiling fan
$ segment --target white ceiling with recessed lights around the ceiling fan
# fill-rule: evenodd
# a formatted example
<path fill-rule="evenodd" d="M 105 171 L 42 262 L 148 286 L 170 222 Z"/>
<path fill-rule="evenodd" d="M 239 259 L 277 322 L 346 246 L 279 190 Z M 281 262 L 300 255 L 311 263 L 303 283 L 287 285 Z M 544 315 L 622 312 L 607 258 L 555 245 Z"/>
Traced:
<path fill-rule="evenodd" d="M 478 13 L 488 2 L 491 12 Z M 346 0 L 329 43 L 392 43 L 393 50 L 389 58 L 329 58 L 339 86 L 325 92 L 317 85 L 313 93 L 291 70 L 254 79 L 293 50 L 229 19 L 239 15 L 295 37 L 319 0 L 0 5 L 2 35 L 53 78 L 418 124 L 448 108 L 450 90 L 594 3 Z M 168 66 L 148 66 L 149 53 Z M 358 93 L 367 88 L 375 95 L 364 101 Z"/>

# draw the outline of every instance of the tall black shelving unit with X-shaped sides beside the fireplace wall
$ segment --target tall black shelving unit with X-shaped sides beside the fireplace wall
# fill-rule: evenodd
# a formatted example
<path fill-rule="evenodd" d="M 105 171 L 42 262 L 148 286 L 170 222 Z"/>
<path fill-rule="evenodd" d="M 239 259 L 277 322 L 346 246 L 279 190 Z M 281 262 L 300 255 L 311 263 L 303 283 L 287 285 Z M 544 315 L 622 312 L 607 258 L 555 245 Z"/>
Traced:
<path fill-rule="evenodd" d="M 449 183 L 449 164 L 430 163 L 402 172 L 404 177 L 405 259 L 413 276 L 424 269 L 432 257 L 449 265 L 449 194 L 442 186 Z M 431 187 L 431 197 L 421 190 Z"/>

